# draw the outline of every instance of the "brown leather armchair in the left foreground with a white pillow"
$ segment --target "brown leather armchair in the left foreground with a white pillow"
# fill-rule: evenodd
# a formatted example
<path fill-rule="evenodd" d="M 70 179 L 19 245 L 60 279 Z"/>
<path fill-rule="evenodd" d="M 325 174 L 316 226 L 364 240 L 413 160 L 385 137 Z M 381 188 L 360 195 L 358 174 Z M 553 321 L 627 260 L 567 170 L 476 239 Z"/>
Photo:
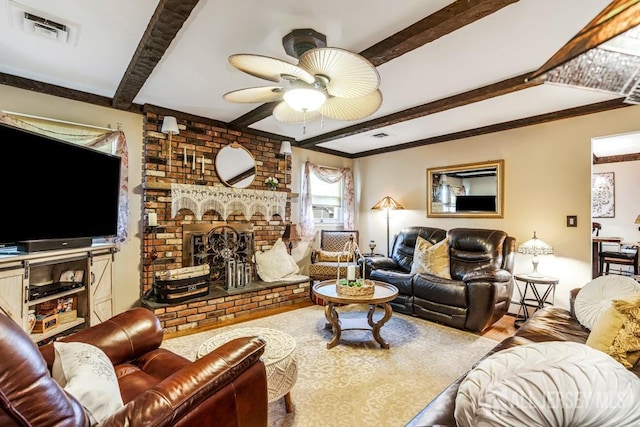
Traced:
<path fill-rule="evenodd" d="M 124 407 L 102 426 L 266 426 L 265 342 L 239 338 L 194 362 L 160 348 L 153 312 L 134 308 L 61 341 L 93 344 L 113 362 Z M 0 425 L 88 426 L 80 403 L 51 378 L 53 344 L 38 348 L 0 315 Z"/>

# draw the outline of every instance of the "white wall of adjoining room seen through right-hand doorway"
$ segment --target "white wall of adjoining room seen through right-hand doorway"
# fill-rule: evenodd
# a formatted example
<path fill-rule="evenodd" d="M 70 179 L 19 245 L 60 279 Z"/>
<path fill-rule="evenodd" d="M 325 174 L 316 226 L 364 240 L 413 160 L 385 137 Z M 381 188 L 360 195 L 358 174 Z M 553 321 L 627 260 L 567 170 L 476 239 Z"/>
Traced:
<path fill-rule="evenodd" d="M 640 215 L 640 161 L 617 162 L 593 165 L 594 173 L 613 172 L 614 217 L 594 218 L 602 224 L 601 236 L 622 237 L 624 243 L 640 242 L 640 224 L 635 224 Z"/>

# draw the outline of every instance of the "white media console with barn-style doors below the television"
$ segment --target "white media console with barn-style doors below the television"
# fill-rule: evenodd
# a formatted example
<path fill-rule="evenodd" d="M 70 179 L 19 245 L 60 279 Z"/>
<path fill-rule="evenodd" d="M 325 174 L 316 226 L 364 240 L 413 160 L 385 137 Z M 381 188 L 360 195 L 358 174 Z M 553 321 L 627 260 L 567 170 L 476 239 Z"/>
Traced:
<path fill-rule="evenodd" d="M 75 312 L 58 313 L 54 327 L 31 333 L 34 342 L 109 319 L 113 316 L 115 250 L 114 244 L 99 244 L 0 255 L 0 312 L 28 331 L 30 310 L 73 300 Z M 69 275 L 72 280 L 66 280 Z"/>

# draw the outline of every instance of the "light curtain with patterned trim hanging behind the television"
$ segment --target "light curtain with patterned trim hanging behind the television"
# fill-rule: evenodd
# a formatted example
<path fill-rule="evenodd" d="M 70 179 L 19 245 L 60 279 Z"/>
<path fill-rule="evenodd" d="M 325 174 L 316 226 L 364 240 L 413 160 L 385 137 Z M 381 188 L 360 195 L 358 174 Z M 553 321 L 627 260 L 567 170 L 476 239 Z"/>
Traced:
<path fill-rule="evenodd" d="M 41 117 L 23 116 L 0 111 L 0 123 L 29 130 L 52 138 L 72 142 L 85 147 L 99 148 L 116 144 L 120 156 L 120 197 L 118 208 L 118 243 L 125 243 L 129 229 L 129 154 L 127 140 L 121 130 L 100 129 L 93 126 L 49 120 Z"/>

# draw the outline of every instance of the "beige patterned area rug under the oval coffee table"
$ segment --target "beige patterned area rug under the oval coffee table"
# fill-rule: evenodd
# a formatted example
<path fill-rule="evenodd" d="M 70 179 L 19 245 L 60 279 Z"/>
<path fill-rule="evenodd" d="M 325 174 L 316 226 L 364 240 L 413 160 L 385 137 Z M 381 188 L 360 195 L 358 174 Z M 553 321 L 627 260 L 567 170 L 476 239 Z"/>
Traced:
<path fill-rule="evenodd" d="M 366 306 L 338 307 L 341 318 L 366 316 Z M 381 316 L 382 314 L 380 314 Z M 376 317 L 377 318 L 377 317 Z M 468 371 L 496 341 L 394 313 L 383 326 L 381 349 L 368 331 L 332 332 L 324 308 L 310 306 L 224 328 L 165 340 L 163 347 L 193 360 L 208 338 L 231 328 L 274 328 L 296 340 L 298 378 L 284 399 L 269 404 L 269 426 L 403 426 L 431 399 Z"/>

